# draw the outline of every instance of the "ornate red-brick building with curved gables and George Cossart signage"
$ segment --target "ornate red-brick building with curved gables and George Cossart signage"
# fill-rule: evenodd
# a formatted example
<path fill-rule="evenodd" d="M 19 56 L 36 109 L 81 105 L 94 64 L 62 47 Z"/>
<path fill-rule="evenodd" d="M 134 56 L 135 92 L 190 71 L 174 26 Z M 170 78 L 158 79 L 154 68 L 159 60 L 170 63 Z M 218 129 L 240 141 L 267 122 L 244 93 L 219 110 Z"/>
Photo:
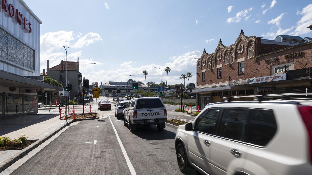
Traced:
<path fill-rule="evenodd" d="M 312 92 L 311 59 L 312 41 L 287 35 L 266 40 L 241 30 L 234 44 L 225 46 L 220 39 L 213 53 L 204 49 L 197 60 L 197 105 L 228 96 Z"/>

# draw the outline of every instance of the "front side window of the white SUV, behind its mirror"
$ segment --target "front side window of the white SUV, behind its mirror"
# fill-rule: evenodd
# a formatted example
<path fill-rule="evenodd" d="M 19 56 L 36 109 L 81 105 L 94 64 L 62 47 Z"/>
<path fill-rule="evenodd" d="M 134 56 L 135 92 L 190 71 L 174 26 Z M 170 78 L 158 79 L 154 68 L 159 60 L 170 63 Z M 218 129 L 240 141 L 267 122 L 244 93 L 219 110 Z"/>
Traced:
<path fill-rule="evenodd" d="M 208 110 L 204 115 L 198 117 L 195 124 L 195 130 L 207 134 L 214 134 L 214 129 L 219 113 L 220 109 L 211 109 Z"/>

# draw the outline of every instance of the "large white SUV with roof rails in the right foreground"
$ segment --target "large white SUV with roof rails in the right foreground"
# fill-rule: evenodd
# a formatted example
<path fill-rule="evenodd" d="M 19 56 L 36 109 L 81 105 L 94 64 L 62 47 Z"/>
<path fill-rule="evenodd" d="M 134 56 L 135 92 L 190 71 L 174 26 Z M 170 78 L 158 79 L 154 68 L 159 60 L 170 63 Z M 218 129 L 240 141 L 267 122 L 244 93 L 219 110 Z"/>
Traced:
<path fill-rule="evenodd" d="M 259 101 L 214 103 L 192 123 L 180 125 L 175 139 L 180 170 L 192 167 L 214 175 L 312 174 L 312 106 L 296 100 L 261 101 L 266 96 L 270 95 L 257 96 Z"/>

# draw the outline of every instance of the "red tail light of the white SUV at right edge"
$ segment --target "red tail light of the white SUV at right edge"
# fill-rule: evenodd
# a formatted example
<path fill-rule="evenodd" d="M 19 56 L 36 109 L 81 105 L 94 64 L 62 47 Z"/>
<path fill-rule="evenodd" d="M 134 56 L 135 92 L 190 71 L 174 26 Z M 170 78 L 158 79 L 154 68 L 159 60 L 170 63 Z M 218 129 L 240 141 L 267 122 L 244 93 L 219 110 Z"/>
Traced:
<path fill-rule="evenodd" d="M 310 163 L 312 163 L 312 106 L 298 105 L 298 110 L 308 130 Z"/>

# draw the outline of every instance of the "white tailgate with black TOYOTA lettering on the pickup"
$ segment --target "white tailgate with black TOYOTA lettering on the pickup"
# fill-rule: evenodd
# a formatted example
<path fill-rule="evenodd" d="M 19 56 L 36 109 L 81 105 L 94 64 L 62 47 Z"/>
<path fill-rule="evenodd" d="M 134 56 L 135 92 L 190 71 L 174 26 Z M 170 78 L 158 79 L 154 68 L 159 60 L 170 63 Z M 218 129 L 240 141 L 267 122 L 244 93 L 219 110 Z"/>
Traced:
<path fill-rule="evenodd" d="M 167 116 L 164 116 L 163 108 L 137 109 L 137 113 L 138 120 L 167 118 Z"/>

